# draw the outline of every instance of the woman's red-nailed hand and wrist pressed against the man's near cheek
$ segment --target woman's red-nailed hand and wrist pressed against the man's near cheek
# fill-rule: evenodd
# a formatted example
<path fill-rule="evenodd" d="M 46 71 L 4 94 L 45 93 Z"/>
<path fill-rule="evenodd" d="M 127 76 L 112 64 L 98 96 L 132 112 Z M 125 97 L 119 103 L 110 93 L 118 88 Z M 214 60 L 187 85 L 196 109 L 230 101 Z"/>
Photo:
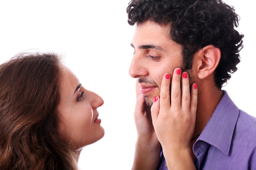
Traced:
<path fill-rule="evenodd" d="M 181 69 L 176 68 L 170 97 L 170 81 L 171 77 L 166 73 L 162 79 L 160 97 L 155 96 L 151 107 L 153 126 L 169 170 L 175 166 L 191 169 L 194 164 L 190 141 L 195 128 L 198 88 L 197 84 L 192 84 L 190 92 L 188 73 L 181 73 Z"/>

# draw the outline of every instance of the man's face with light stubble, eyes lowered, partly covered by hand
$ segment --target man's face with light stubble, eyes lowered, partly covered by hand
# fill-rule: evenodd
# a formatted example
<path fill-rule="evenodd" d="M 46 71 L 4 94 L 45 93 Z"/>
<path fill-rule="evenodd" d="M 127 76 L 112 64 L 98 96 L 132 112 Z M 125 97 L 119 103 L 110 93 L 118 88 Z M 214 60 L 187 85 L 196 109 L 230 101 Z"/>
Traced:
<path fill-rule="evenodd" d="M 182 46 L 171 40 L 170 26 L 146 21 L 136 25 L 131 46 L 134 48 L 129 74 L 138 79 L 139 92 L 150 108 L 160 95 L 162 77 L 182 67 Z"/>

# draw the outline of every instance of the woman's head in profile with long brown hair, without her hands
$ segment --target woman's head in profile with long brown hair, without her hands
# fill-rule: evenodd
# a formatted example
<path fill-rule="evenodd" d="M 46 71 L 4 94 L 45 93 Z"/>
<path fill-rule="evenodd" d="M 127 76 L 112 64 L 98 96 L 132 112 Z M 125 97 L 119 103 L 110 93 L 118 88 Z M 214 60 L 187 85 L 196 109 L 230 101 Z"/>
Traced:
<path fill-rule="evenodd" d="M 104 136 L 101 105 L 55 53 L 1 64 L 0 169 L 77 170 L 81 149 Z"/>

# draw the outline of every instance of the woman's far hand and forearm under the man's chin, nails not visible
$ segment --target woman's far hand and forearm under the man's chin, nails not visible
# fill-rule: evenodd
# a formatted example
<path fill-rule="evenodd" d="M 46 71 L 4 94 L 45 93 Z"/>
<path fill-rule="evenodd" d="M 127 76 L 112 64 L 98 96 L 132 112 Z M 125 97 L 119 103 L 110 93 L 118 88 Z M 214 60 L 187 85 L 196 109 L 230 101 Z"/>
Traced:
<path fill-rule="evenodd" d="M 160 161 L 161 147 L 153 128 L 150 109 L 145 104 L 145 97 L 139 94 L 138 83 L 136 83 L 136 95 L 134 119 L 138 137 L 132 170 L 156 170 Z"/>

